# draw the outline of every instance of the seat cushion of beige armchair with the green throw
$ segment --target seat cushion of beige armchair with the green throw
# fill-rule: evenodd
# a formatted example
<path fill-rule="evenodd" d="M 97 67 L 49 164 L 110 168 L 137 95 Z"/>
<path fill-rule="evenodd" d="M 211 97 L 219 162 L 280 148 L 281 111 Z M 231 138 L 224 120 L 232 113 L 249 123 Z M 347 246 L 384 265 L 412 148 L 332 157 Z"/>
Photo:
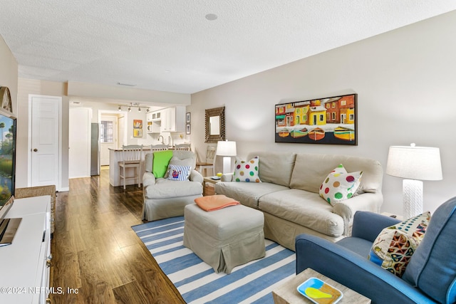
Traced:
<path fill-rule="evenodd" d="M 200 195 L 200 182 L 175 182 L 169 179 L 156 179 L 155 184 L 145 187 L 146 199 L 169 199 L 170 197 Z"/>

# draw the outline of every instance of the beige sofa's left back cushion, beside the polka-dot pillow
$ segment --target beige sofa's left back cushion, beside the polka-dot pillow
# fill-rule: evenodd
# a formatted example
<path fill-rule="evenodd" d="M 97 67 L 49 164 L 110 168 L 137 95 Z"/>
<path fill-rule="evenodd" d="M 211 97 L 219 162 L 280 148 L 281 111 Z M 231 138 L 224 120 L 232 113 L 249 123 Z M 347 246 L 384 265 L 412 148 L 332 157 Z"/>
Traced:
<path fill-rule="evenodd" d="M 247 159 L 259 157 L 259 178 L 261 182 L 270 182 L 289 187 L 296 153 L 290 152 L 253 152 Z"/>

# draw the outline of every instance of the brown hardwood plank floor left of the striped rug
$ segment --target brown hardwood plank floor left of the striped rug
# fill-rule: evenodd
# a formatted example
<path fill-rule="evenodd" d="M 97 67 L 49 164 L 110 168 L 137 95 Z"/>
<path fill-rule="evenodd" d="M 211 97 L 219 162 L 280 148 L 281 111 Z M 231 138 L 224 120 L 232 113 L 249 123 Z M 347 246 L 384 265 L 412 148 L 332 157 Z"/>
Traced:
<path fill-rule="evenodd" d="M 130 228 L 141 213 L 142 190 L 111 187 L 108 170 L 71 179 L 56 197 L 51 303 L 185 303 Z"/>

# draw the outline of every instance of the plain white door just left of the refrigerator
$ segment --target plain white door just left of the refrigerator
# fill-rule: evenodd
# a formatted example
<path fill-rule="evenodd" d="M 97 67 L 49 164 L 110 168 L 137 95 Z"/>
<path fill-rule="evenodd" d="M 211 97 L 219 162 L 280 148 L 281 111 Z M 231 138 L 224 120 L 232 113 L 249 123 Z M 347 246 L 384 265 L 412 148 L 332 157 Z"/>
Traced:
<path fill-rule="evenodd" d="M 68 177 L 90 177 L 90 120 L 92 109 L 70 108 L 68 120 Z"/>

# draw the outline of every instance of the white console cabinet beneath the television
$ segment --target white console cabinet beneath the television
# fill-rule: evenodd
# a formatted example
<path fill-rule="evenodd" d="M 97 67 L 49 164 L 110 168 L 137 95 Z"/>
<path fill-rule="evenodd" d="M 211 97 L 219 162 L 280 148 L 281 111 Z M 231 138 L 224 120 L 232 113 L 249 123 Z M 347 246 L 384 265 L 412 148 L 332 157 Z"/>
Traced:
<path fill-rule="evenodd" d="M 47 195 L 16 199 L 6 214 L 22 220 L 13 243 L 0 247 L 0 303 L 46 303 L 52 289 L 50 211 Z"/>

